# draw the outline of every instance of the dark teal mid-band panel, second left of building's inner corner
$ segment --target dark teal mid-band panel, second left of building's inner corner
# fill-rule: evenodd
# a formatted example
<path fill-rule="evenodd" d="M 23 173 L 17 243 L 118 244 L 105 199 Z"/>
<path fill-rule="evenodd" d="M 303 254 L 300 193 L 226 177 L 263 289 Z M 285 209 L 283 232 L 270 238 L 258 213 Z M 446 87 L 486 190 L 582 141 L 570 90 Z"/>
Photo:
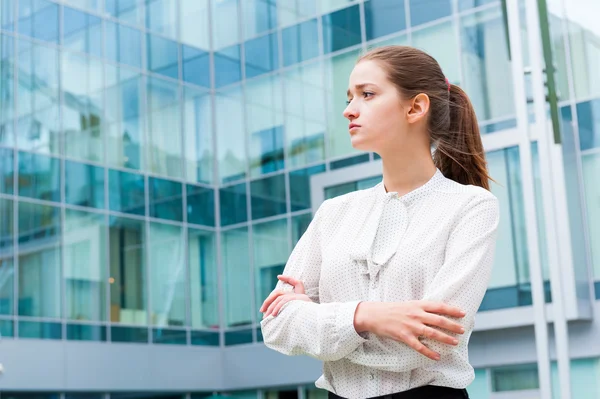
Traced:
<path fill-rule="evenodd" d="M 151 177 L 150 216 L 159 219 L 183 221 L 183 193 L 181 183 Z"/>

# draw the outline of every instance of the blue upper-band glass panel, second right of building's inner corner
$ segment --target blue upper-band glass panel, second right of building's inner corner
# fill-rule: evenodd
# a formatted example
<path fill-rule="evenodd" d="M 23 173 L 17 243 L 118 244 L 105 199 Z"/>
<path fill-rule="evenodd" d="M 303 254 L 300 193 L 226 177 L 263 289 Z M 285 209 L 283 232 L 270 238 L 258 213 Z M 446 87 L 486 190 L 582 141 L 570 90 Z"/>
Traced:
<path fill-rule="evenodd" d="M 244 46 L 246 50 L 246 78 L 262 75 L 279 68 L 276 33 L 249 40 Z"/>

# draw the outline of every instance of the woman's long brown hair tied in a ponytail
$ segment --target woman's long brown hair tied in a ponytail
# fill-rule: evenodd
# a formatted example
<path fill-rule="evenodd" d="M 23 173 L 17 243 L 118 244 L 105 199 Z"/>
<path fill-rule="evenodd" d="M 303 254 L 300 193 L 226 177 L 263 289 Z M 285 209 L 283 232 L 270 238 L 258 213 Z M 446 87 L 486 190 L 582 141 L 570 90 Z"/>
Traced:
<path fill-rule="evenodd" d="M 491 179 L 475 110 L 467 94 L 449 83 L 438 62 L 408 46 L 377 47 L 359 58 L 380 63 L 404 98 L 429 96 L 429 137 L 433 161 L 445 177 L 489 190 Z"/>

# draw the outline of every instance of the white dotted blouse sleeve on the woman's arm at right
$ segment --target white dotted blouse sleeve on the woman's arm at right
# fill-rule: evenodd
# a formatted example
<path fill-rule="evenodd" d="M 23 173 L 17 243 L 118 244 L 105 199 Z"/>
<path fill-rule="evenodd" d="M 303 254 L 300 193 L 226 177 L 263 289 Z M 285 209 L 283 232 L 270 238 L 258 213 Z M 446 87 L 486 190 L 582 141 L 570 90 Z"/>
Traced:
<path fill-rule="evenodd" d="M 473 330 L 475 314 L 489 283 L 498 221 L 498 201 L 493 195 L 479 195 L 471 200 L 451 230 L 444 262 L 422 298 L 457 306 L 466 312 L 464 318 L 456 320 L 465 328 L 465 333 L 457 336 L 458 346 L 453 347 L 431 339 L 422 341 L 440 353 L 439 362 L 452 367 L 469 367 L 466 347 Z M 369 338 L 369 341 L 373 340 L 376 341 L 374 344 L 377 350 L 367 351 L 365 347 L 359 346 L 347 359 L 362 366 L 395 372 L 436 364 L 436 361 L 402 342 L 376 336 Z"/>

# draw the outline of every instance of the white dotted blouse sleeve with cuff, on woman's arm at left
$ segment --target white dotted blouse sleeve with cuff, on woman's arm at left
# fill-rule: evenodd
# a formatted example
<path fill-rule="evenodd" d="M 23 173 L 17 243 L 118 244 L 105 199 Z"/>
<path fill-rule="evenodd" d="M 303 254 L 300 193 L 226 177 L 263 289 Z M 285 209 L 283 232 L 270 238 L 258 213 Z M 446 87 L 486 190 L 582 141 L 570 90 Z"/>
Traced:
<path fill-rule="evenodd" d="M 323 203 L 304 235 L 292 251 L 284 275 L 301 280 L 314 301 L 290 301 L 277 317 L 261 321 L 264 343 L 286 355 L 308 355 L 323 361 L 339 360 L 354 351 L 365 339 L 354 328 L 354 313 L 359 301 L 320 304 L 321 273 L 320 224 Z M 279 282 L 276 289 L 291 289 Z"/>

